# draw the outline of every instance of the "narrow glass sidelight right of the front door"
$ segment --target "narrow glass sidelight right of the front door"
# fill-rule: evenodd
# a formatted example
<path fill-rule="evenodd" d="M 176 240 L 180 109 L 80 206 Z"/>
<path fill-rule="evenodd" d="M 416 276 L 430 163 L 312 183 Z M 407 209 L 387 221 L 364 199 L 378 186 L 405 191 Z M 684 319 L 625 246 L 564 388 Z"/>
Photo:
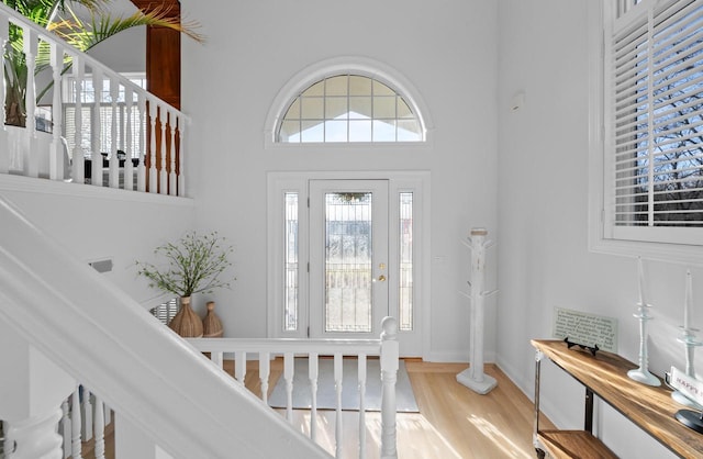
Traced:
<path fill-rule="evenodd" d="M 413 329 L 413 193 L 400 193 L 400 307 L 399 328 Z"/>

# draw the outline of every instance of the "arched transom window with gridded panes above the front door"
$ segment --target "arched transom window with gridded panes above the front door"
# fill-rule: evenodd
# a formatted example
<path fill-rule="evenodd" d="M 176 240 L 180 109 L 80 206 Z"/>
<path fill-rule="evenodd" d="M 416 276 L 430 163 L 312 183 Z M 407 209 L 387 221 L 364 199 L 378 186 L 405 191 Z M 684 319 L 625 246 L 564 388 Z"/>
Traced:
<path fill-rule="evenodd" d="M 335 75 L 302 91 L 278 125 L 279 143 L 422 142 L 406 100 L 361 75 Z"/>

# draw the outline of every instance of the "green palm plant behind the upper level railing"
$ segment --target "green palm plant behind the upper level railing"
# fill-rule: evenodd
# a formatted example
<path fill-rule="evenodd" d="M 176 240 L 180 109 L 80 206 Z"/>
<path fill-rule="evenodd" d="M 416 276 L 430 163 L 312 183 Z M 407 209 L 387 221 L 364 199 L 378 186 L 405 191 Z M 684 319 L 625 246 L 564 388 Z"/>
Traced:
<path fill-rule="evenodd" d="M 76 48 L 87 52 L 120 32 L 141 25 L 168 27 L 198 42 L 202 35 L 196 32 L 198 24 L 181 22 L 168 8 L 157 7 L 148 12 L 137 11 L 129 16 L 113 16 L 110 0 L 2 0 L 4 4 L 26 16 L 32 22 L 55 33 Z M 4 51 L 5 124 L 26 124 L 27 65 L 23 53 L 22 30 L 10 26 L 10 40 Z M 35 72 L 48 67 L 48 44 L 41 42 L 36 56 Z M 64 71 L 70 68 L 70 57 L 65 59 Z M 52 88 L 37 92 L 37 101 Z"/>

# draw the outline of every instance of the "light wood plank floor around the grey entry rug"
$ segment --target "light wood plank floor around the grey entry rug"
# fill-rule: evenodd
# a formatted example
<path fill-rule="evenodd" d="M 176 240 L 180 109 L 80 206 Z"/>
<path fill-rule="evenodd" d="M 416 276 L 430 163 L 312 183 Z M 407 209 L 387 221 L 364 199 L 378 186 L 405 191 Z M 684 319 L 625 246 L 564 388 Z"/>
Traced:
<path fill-rule="evenodd" d="M 431 363 L 405 360 L 420 413 L 398 414 L 398 457 L 400 459 L 532 459 L 534 405 L 495 366 L 487 365 L 486 373 L 498 380 L 498 387 L 479 395 L 456 381 L 466 363 Z M 233 373 L 233 362 L 225 361 Z M 271 362 L 269 393 L 282 372 L 282 360 Z M 246 387 L 260 395 L 258 365 L 247 365 Z M 284 411 L 279 410 L 282 415 Z M 309 435 L 310 411 L 295 410 L 293 426 Z M 367 458 L 379 457 L 380 413 L 367 413 Z M 358 457 L 358 413 L 343 412 L 345 458 Z M 335 412 L 317 412 L 317 443 L 334 455 Z M 540 427 L 554 428 L 544 416 Z M 114 454 L 108 437 L 108 459 Z M 91 459 L 91 451 L 83 456 Z"/>

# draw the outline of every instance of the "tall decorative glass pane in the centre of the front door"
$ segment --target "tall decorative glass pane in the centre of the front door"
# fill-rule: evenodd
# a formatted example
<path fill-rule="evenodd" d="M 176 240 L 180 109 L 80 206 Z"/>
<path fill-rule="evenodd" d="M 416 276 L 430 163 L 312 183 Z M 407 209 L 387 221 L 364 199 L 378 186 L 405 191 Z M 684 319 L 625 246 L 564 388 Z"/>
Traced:
<path fill-rule="evenodd" d="M 371 332 L 371 197 L 325 194 L 325 332 Z"/>

